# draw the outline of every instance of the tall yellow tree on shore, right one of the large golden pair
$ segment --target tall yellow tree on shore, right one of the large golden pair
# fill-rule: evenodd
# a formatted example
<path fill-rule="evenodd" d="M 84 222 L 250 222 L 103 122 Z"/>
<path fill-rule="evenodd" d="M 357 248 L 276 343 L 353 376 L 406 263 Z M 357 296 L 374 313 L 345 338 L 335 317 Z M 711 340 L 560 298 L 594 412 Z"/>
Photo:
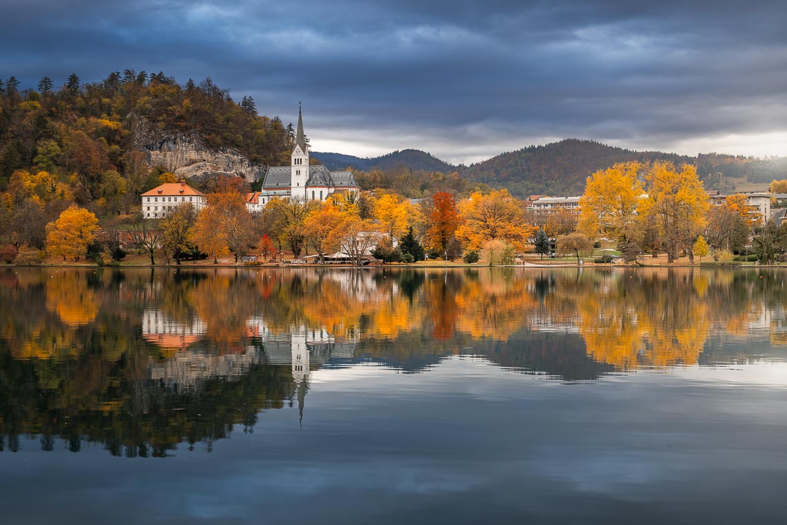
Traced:
<path fill-rule="evenodd" d="M 692 242 L 705 226 L 710 203 L 696 168 L 683 165 L 676 170 L 669 162 L 656 162 L 645 176 L 647 198 L 640 201 L 641 220 L 652 218 L 672 263 L 680 250 L 689 253 L 693 263 Z"/>

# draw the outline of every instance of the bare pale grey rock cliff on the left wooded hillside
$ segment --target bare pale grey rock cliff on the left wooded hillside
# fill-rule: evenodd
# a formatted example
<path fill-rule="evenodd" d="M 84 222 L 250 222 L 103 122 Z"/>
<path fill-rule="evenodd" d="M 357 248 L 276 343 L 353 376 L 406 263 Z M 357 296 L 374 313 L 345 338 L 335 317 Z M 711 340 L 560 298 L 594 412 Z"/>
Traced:
<path fill-rule="evenodd" d="M 249 183 L 261 179 L 265 166 L 229 148 L 212 150 L 199 140 L 184 135 L 168 135 L 155 130 L 142 119 L 131 126 L 135 147 L 147 154 L 151 167 L 165 168 L 176 176 L 190 179 L 215 175 L 239 176 Z"/>

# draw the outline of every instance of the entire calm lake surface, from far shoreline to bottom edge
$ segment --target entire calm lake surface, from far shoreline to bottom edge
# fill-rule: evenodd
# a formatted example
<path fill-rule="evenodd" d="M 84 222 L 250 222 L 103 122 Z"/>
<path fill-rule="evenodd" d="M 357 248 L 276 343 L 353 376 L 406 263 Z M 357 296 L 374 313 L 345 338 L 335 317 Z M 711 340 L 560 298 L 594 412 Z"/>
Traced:
<path fill-rule="evenodd" d="M 785 523 L 785 280 L 0 268 L 0 523 Z"/>

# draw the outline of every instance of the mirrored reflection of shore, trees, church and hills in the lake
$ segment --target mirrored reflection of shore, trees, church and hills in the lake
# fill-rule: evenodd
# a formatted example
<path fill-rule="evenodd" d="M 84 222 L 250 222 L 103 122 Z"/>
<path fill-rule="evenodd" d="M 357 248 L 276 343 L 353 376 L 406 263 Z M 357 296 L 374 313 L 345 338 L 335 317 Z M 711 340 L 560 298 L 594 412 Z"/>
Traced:
<path fill-rule="evenodd" d="M 300 407 L 317 368 L 454 354 L 595 380 L 781 359 L 785 272 L 4 269 L 0 449 L 164 456 Z M 745 343 L 745 344 L 744 344 Z"/>

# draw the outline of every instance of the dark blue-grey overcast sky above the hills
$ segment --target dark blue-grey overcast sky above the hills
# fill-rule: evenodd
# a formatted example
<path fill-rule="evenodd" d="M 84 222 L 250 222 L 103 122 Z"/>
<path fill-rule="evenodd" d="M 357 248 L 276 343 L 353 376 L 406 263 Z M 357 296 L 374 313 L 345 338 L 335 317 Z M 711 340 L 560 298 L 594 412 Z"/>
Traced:
<path fill-rule="evenodd" d="M 0 0 L 0 77 L 211 77 L 312 149 L 787 155 L 787 2 Z"/>

